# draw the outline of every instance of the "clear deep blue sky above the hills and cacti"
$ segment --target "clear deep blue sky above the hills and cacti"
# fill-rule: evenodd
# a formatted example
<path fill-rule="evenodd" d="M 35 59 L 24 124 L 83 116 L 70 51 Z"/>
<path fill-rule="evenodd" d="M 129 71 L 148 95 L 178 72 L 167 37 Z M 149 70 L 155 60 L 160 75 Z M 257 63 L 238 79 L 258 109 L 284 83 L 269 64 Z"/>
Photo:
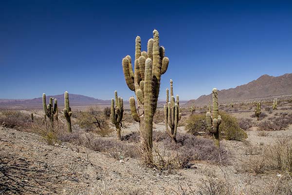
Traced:
<path fill-rule="evenodd" d="M 160 33 L 183 100 L 292 73 L 292 1 L 1 0 L 0 98 L 128 99 L 122 59 Z"/>

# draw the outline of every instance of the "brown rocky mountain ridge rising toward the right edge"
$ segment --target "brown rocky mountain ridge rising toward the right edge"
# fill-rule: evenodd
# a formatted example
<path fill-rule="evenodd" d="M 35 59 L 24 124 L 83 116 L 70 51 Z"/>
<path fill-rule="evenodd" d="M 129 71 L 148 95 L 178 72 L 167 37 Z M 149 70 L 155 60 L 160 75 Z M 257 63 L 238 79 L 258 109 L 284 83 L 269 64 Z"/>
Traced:
<path fill-rule="evenodd" d="M 263 75 L 247 84 L 218 92 L 219 103 L 281 95 L 292 95 L 292 74 L 285 74 L 279 77 Z M 185 105 L 205 105 L 209 101 L 212 101 L 212 94 L 200 96 L 198 99 L 191 99 Z"/>

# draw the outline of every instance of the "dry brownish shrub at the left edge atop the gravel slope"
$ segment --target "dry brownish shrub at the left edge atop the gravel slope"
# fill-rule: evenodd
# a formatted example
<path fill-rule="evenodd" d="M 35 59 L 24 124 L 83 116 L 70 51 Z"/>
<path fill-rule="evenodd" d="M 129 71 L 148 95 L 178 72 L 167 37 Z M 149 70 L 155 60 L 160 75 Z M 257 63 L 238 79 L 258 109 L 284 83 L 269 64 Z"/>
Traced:
<path fill-rule="evenodd" d="M 31 116 L 19 111 L 3 111 L 0 113 L 0 125 L 3 124 L 9 128 L 23 127 L 30 122 Z"/>

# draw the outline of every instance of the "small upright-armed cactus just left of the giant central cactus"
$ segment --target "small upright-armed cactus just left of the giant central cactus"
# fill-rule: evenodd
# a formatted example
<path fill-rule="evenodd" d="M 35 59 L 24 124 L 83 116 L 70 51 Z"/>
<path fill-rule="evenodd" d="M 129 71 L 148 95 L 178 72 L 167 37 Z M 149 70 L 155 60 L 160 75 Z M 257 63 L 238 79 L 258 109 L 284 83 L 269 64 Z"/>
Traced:
<path fill-rule="evenodd" d="M 121 127 L 124 113 L 123 98 L 118 97 L 117 91 L 114 91 L 115 100 L 111 99 L 110 118 L 112 124 L 115 125 L 117 131 L 117 140 L 121 140 Z M 114 105 L 115 103 L 115 105 Z"/>

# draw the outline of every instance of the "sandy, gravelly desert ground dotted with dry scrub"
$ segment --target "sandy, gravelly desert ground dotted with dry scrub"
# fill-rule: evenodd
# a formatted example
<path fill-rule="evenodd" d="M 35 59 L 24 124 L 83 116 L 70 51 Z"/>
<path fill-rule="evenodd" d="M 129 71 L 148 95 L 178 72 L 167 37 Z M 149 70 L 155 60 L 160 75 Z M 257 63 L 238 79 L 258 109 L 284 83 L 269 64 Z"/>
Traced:
<path fill-rule="evenodd" d="M 163 108 L 158 108 L 152 164 L 141 154 L 139 123 L 128 110 L 121 141 L 102 114 L 104 108 L 73 108 L 70 134 L 64 133 L 61 112 L 51 127 L 42 110 L 2 110 L 0 194 L 291 195 L 291 99 L 280 99 L 277 110 L 270 100 L 263 101 L 259 121 L 252 102 L 219 105 L 219 111 L 235 117 L 233 123 L 247 135 L 223 138 L 225 133 L 220 149 L 203 128 L 203 120 L 197 132 L 188 132 L 191 117 L 204 116 L 207 107 L 196 107 L 192 114 L 189 107 L 182 108 L 178 143 L 166 135 Z M 103 129 L 84 119 L 90 114 L 105 118 Z"/>

